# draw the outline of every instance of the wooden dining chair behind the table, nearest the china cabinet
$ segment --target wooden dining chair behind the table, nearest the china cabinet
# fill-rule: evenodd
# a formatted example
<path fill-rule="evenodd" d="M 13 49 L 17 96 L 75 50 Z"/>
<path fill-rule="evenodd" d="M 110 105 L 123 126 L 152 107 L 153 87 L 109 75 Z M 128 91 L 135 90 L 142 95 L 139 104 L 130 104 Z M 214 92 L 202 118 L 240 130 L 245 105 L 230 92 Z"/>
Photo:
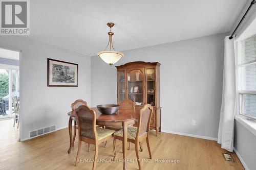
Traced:
<path fill-rule="evenodd" d="M 131 101 L 130 99 L 122 100 L 119 105 L 120 105 L 120 109 L 131 109 L 131 110 L 135 109 L 135 102 Z M 115 131 L 119 131 L 119 130 L 122 129 L 122 125 L 107 126 L 105 128 L 115 130 Z M 131 145 L 131 143 L 129 142 L 128 150 L 130 150 L 130 145 Z M 141 145 L 140 145 L 140 150 L 142 151 Z"/>

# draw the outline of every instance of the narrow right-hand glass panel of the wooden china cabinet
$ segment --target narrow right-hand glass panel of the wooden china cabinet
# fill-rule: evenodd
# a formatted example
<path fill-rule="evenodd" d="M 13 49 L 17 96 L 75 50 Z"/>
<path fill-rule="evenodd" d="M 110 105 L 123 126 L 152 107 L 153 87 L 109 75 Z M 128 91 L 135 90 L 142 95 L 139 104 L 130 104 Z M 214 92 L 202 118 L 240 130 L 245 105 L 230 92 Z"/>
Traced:
<path fill-rule="evenodd" d="M 146 94 L 147 104 L 155 106 L 155 68 L 146 69 Z"/>

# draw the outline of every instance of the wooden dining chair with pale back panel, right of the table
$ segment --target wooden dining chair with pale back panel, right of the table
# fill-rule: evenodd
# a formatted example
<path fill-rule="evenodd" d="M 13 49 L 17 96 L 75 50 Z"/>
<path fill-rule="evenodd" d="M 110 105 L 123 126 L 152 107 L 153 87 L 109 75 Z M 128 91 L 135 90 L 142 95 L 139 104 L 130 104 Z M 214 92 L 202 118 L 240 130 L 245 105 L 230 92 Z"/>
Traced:
<path fill-rule="evenodd" d="M 139 143 L 146 139 L 148 153 L 150 154 L 150 159 L 152 159 L 151 150 L 150 150 L 150 120 L 153 113 L 153 107 L 150 104 L 144 105 L 140 110 L 139 115 L 139 127 L 128 126 L 127 127 L 127 141 L 135 144 L 135 152 L 138 160 L 139 169 L 141 169 L 138 146 Z M 123 131 L 119 130 L 114 133 L 114 159 L 116 157 L 116 139 L 123 140 Z"/>

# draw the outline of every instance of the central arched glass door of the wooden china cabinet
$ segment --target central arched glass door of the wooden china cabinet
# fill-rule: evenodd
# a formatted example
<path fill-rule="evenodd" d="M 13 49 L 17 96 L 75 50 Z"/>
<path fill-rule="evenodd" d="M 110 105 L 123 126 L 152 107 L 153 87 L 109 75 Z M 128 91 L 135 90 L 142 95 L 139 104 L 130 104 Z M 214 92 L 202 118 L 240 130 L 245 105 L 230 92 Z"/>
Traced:
<path fill-rule="evenodd" d="M 131 70 L 127 73 L 128 98 L 136 105 L 143 105 L 143 72 Z"/>

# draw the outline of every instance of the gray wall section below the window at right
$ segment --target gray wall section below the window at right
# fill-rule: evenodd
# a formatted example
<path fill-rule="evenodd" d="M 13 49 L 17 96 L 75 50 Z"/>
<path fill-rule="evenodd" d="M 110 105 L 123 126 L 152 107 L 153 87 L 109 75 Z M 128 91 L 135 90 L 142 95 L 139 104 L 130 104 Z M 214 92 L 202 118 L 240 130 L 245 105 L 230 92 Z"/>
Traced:
<path fill-rule="evenodd" d="M 256 169 L 256 136 L 237 120 L 234 130 L 234 148 L 249 169 Z"/>

